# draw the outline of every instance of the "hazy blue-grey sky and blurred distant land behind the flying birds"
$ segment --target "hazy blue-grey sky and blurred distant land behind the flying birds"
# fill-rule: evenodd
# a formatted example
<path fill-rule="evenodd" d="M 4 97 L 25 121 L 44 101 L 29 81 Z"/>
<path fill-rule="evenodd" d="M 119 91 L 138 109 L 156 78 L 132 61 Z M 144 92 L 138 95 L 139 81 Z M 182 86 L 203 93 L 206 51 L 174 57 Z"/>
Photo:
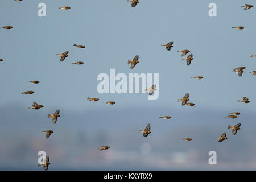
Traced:
<path fill-rule="evenodd" d="M 46 17 L 38 4 L 46 3 Z M 217 4 L 217 17 L 208 5 Z M 246 1 L 253 4 L 254 1 Z M 254 22 L 245 1 L 1 0 L 0 169 L 42 170 L 38 151 L 57 169 L 256 169 Z M 70 6 L 69 10 L 58 7 Z M 256 6 L 256 5 L 255 5 Z M 233 29 L 243 26 L 244 30 Z M 160 46 L 174 41 L 167 51 Z M 83 44 L 79 49 L 73 44 Z M 177 50 L 193 53 L 189 67 Z M 60 62 L 56 53 L 69 51 Z M 139 55 L 134 69 L 128 59 Z M 84 61 L 83 65 L 72 65 Z M 242 77 L 232 72 L 246 66 Z M 159 98 L 98 94 L 99 73 L 159 73 Z M 203 76 L 192 80 L 191 76 Z M 40 84 L 27 83 L 39 80 Z M 33 90 L 32 95 L 22 95 Z M 196 106 L 177 102 L 189 92 Z M 243 96 L 250 104 L 241 104 Z M 86 97 L 98 97 L 89 102 Z M 40 110 L 27 108 L 36 101 Z M 115 101 L 115 105 L 103 104 Z M 60 109 L 56 125 L 47 114 Z M 224 118 L 240 111 L 236 119 Z M 170 120 L 159 116 L 171 115 Z M 152 134 L 139 129 L 151 124 Z M 228 125 L 241 123 L 235 136 Z M 49 139 L 42 130 L 53 130 Z M 215 137 L 226 131 L 228 140 Z M 193 138 L 185 142 L 183 138 Z M 108 145 L 106 151 L 98 147 Z M 208 152 L 217 152 L 217 165 Z"/>

